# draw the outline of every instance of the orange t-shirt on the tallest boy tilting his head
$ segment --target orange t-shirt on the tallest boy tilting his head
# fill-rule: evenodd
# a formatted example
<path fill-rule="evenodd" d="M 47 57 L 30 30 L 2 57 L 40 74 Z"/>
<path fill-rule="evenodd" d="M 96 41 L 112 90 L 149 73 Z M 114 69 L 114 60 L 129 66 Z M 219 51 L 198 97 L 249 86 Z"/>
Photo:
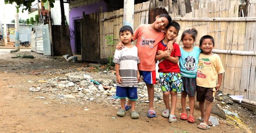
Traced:
<path fill-rule="evenodd" d="M 140 24 L 134 31 L 133 40 L 137 39 L 136 47 L 140 59 L 139 70 L 156 70 L 156 49 L 157 43 L 163 40 L 165 33 L 150 27 L 150 24 Z"/>

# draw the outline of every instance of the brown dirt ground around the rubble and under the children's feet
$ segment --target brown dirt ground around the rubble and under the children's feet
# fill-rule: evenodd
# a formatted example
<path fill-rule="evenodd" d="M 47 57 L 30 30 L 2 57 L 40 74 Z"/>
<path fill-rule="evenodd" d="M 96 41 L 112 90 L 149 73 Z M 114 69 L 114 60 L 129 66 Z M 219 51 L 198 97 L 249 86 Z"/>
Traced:
<path fill-rule="evenodd" d="M 11 58 L 24 53 L 36 58 Z M 139 103 L 137 110 L 140 118 L 131 119 L 130 111 L 123 118 L 117 117 L 118 107 L 112 104 L 93 101 L 63 102 L 60 99 L 49 99 L 43 92 L 29 91 L 34 85 L 28 82 L 30 80 L 65 76 L 69 69 L 86 66 L 87 63 L 69 63 L 61 57 L 44 57 L 35 52 L 0 55 L 0 132 L 205 132 L 196 127 L 198 119 L 196 123 L 181 120 L 168 122 L 168 119 L 161 116 L 164 103 L 154 104 L 158 117 L 151 119 L 146 116 L 147 103 Z M 54 69 L 62 70 L 63 73 L 47 73 Z M 45 96 L 45 99 L 35 99 L 39 96 Z M 176 114 L 179 118 L 180 102 L 177 105 Z M 198 117 L 200 112 L 195 110 L 195 118 Z M 255 118 L 241 118 L 244 122 L 251 119 Z M 247 131 L 220 119 L 220 126 L 211 127 L 207 132 Z"/>

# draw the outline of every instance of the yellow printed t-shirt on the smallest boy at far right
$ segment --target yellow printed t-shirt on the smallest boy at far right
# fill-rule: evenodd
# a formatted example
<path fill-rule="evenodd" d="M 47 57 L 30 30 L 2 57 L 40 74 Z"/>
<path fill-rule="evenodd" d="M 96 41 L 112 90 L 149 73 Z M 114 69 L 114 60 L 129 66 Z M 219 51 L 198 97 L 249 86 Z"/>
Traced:
<path fill-rule="evenodd" d="M 196 73 L 196 85 L 214 88 L 217 85 L 218 74 L 224 73 L 219 55 L 199 55 L 198 69 Z"/>

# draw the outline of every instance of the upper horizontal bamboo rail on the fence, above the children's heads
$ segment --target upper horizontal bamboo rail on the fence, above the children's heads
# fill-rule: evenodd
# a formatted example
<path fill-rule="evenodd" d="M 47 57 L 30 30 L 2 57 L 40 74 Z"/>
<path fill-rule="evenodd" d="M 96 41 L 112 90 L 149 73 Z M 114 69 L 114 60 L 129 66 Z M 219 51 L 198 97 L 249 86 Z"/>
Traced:
<path fill-rule="evenodd" d="M 172 17 L 174 21 L 255 22 L 256 17 Z"/>

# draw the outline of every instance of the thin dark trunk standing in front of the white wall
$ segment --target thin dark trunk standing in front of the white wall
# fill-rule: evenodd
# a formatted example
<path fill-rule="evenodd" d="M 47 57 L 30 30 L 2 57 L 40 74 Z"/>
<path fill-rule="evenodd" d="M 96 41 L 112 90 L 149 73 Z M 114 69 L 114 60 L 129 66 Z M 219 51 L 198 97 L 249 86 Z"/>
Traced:
<path fill-rule="evenodd" d="M 63 0 L 60 0 L 60 12 L 61 12 L 61 43 L 68 48 L 68 55 L 73 56 L 73 52 L 71 49 L 69 37 L 67 37 L 66 33 L 66 25 L 65 25 L 65 12 L 64 12 L 64 3 Z"/>

